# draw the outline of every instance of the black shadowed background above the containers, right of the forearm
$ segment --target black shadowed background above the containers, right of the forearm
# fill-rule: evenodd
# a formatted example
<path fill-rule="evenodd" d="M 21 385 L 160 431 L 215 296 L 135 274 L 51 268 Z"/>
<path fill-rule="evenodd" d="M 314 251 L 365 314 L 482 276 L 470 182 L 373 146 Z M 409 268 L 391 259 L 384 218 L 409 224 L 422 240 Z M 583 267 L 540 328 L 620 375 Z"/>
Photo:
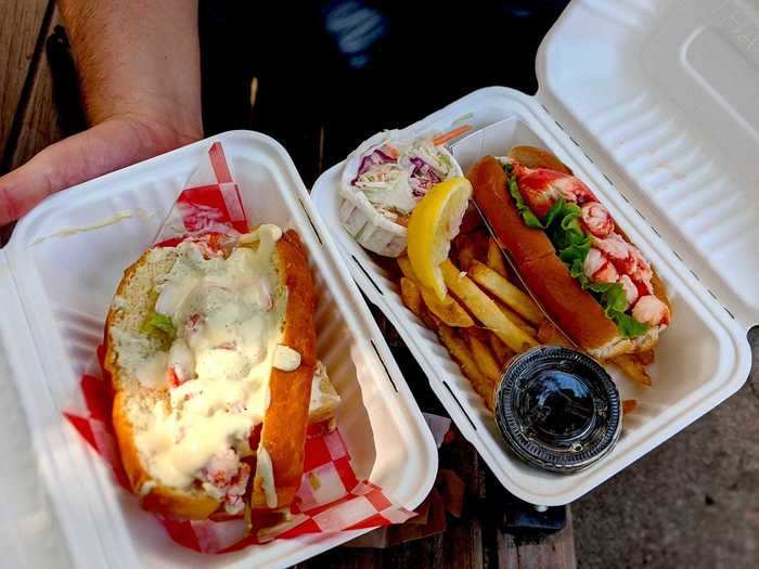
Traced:
<path fill-rule="evenodd" d="M 477 88 L 535 93 L 538 46 L 566 3 L 202 1 L 206 133 L 266 132 L 310 185 L 374 132 Z"/>

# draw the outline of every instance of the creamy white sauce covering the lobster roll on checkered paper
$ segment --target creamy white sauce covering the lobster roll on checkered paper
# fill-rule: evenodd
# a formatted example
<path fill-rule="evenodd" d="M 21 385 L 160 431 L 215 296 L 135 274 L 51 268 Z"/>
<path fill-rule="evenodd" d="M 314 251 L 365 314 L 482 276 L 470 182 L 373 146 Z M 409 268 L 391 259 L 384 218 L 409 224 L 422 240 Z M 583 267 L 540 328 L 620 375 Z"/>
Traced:
<path fill-rule="evenodd" d="M 138 338 L 114 336 L 119 363 L 145 385 L 167 385 L 169 370 L 180 383 L 136 437 L 149 471 L 166 486 L 186 488 L 217 453 L 246 449 L 263 419 L 286 306 L 286 292 L 273 300 L 280 285 L 272 255 L 281 235 L 276 225 L 261 225 L 253 247 L 235 248 L 227 259 L 206 259 L 201 247 L 183 242 L 156 287 L 156 312 L 170 316 L 177 331 L 169 351 L 140 359 L 140 350 L 129 348 Z"/>

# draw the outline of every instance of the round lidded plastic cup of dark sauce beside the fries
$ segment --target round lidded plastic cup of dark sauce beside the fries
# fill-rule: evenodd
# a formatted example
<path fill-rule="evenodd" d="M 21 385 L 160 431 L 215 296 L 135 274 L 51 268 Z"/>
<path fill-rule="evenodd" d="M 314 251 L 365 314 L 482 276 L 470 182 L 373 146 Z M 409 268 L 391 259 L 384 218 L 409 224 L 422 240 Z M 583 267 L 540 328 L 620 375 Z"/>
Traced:
<path fill-rule="evenodd" d="M 526 463 L 558 473 L 586 468 L 612 450 L 621 426 L 619 393 L 592 358 L 539 347 L 515 358 L 496 393 L 496 421 Z"/>

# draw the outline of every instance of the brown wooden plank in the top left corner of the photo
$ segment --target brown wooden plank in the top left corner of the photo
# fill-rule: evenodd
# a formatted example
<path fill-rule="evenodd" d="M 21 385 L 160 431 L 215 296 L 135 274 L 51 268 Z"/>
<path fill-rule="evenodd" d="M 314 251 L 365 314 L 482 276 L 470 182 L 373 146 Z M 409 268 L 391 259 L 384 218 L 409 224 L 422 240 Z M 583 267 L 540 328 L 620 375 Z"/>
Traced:
<path fill-rule="evenodd" d="M 41 44 L 40 29 L 51 0 L 0 0 L 0 157 L 11 137 L 13 120 L 34 70 Z M 27 87 L 28 90 L 28 87 Z"/>

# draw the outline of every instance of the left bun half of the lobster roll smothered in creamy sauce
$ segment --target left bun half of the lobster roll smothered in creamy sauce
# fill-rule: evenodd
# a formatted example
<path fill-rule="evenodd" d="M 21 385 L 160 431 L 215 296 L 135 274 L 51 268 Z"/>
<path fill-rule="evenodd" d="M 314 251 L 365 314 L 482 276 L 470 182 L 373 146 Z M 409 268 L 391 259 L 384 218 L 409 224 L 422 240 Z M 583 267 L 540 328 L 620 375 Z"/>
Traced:
<path fill-rule="evenodd" d="M 106 319 L 104 367 L 111 375 L 114 390 L 112 419 L 121 463 L 132 491 L 140 496 L 140 505 L 164 516 L 186 519 L 205 519 L 221 502 L 195 488 L 178 490 L 154 480 L 146 470 L 137 449 L 136 434 L 149 421 L 150 411 L 156 402 L 168 400 L 166 389 L 144 387 L 136 377 L 130 377 L 119 365 L 112 332 L 115 328 L 138 333 L 141 323 L 153 308 L 154 298 L 149 294 L 156 279 L 171 269 L 173 258 L 169 254 L 154 262 L 151 250 L 125 272 L 116 297 L 123 301 L 113 305 Z M 157 351 L 159 347 L 156 345 Z"/>

